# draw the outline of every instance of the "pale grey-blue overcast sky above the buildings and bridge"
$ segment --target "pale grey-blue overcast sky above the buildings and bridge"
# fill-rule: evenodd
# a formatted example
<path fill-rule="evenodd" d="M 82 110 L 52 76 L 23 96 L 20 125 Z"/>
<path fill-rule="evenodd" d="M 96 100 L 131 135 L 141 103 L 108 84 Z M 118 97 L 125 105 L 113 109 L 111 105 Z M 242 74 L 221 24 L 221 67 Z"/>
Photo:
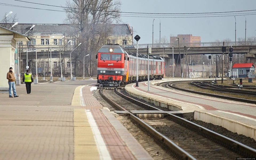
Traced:
<path fill-rule="evenodd" d="M 26 2 L 42 3 L 48 5 L 65 6 L 65 0 L 22 0 Z M 180 0 L 180 1 L 166 1 L 166 0 L 121 0 L 123 5 L 121 11 L 136 12 L 136 13 L 209 13 L 209 12 L 227 12 L 227 11 L 244 11 L 255 10 L 255 0 Z M 35 7 L 41 9 L 62 10 L 59 7 L 48 7 L 44 5 L 30 4 L 25 2 L 18 2 L 14 0 L 0 1 L 0 15 L 1 19 L 4 14 L 13 11 L 17 14 L 19 23 L 63 23 L 65 19 L 65 12 L 28 9 L 13 6 L 4 6 L 1 3 Z M 230 38 L 235 41 L 235 18 L 237 39 L 245 38 L 245 17 L 243 13 L 255 14 L 245 15 L 246 17 L 246 38 L 256 35 L 256 10 L 250 12 L 235 12 L 230 17 L 202 17 L 205 15 L 198 15 L 198 18 L 171 18 L 173 15 L 167 16 L 153 14 L 150 17 L 122 17 L 123 23 L 128 23 L 133 27 L 134 36 L 138 34 L 141 39 L 139 44 L 152 43 L 152 24 L 154 20 L 154 39 L 159 39 L 159 18 L 161 19 L 161 37 L 166 36 L 168 39 L 170 34 L 177 36 L 177 34 L 193 34 L 194 36 L 201 36 L 201 42 L 213 42 L 216 39 L 222 41 Z M 217 14 L 217 13 L 216 13 Z M 234 18 L 234 14 L 236 14 Z M 191 17 L 191 15 L 180 15 L 178 17 Z M 219 15 L 211 15 L 219 16 Z"/>

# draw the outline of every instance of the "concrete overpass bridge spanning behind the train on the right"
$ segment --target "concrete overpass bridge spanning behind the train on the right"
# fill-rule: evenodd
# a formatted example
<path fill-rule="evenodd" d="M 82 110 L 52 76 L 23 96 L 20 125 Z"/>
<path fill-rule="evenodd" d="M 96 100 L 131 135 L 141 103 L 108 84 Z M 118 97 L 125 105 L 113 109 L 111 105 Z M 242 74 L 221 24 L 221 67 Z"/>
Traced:
<path fill-rule="evenodd" d="M 176 41 L 177 42 L 177 41 Z M 165 43 L 165 44 L 149 44 L 149 47 L 152 47 L 152 53 L 150 55 L 159 55 L 160 57 L 165 57 L 165 63 L 170 64 L 170 59 L 173 58 L 175 63 L 178 64 L 178 55 L 179 49 L 181 52 L 181 58 L 183 58 L 184 46 L 189 47 L 187 50 L 187 54 L 222 54 L 221 47 L 223 42 L 206 42 L 206 43 L 180 43 L 178 47 L 178 43 Z M 160 47 L 161 46 L 161 47 Z M 256 42 L 225 42 L 226 52 L 229 53 L 229 47 L 232 46 L 233 54 L 245 54 L 246 58 L 250 59 L 251 63 L 256 63 Z M 173 49 L 172 49 L 173 47 Z M 125 49 L 126 51 L 130 51 L 132 53 L 136 53 L 137 46 L 135 49 Z M 147 44 L 138 45 L 138 53 L 139 54 L 147 54 Z"/>

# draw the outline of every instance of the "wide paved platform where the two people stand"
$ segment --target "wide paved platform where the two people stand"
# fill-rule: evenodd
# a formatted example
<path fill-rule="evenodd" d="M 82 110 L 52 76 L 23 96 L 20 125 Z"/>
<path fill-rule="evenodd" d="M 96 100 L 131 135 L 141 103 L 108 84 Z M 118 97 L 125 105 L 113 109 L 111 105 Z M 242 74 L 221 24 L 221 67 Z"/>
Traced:
<path fill-rule="evenodd" d="M 16 86 L 0 93 L 0 159 L 152 159 L 94 98 L 96 80 Z"/>

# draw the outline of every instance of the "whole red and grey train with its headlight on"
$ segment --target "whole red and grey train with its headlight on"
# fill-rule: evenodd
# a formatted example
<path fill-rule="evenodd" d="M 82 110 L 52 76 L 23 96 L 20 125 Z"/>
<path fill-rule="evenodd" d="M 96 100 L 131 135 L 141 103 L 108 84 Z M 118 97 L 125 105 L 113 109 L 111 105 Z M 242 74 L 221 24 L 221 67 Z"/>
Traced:
<path fill-rule="evenodd" d="M 118 87 L 134 83 L 137 79 L 136 53 L 126 52 L 118 44 L 106 44 L 97 55 L 97 83 L 100 87 Z M 138 55 L 138 81 L 148 80 L 148 61 L 146 55 Z M 150 56 L 149 80 L 162 79 L 164 61 L 160 57 Z"/>

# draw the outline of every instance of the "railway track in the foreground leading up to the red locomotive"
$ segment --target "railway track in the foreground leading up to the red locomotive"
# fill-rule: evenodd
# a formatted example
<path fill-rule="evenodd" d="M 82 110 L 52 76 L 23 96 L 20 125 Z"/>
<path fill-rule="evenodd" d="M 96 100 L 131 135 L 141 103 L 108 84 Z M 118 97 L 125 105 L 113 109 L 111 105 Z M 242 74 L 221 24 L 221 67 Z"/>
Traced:
<path fill-rule="evenodd" d="M 154 141 L 163 147 L 166 153 L 162 155 L 162 158 L 166 158 L 167 153 L 168 156 L 171 156 L 171 159 L 256 157 L 255 149 L 170 114 L 167 111 L 162 111 L 159 108 L 127 97 L 119 92 L 118 88 L 102 88 L 99 92 L 111 106 L 116 110 L 123 111 L 141 130 L 153 137 Z M 133 110 L 162 111 L 165 113 L 165 117 L 140 119 L 132 113 Z M 151 150 L 157 150 L 155 148 Z"/>

